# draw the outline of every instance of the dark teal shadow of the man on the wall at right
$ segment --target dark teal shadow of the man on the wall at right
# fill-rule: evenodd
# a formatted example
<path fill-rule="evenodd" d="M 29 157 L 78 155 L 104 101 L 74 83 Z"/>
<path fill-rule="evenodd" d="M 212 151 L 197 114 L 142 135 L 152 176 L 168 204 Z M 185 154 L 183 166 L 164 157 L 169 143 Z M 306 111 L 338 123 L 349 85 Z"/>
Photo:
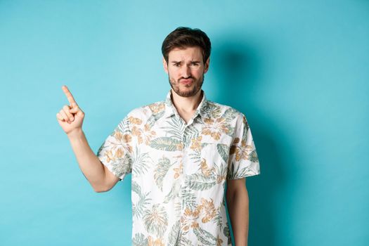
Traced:
<path fill-rule="evenodd" d="M 256 49 L 239 39 L 224 40 L 214 50 L 216 56 L 212 70 L 218 83 L 216 86 L 221 88 L 220 100 L 217 101 L 246 115 L 259 155 L 261 175 L 246 179 L 250 196 L 249 244 L 276 245 L 278 216 L 274 212 L 278 211 L 275 207 L 280 204 L 276 192 L 287 186 L 287 177 L 283 167 L 285 160 L 278 149 L 283 136 L 279 133 L 277 136 L 273 131 L 276 127 L 273 119 L 254 103 L 257 96 L 255 88 L 263 73 L 263 58 L 258 56 Z"/>

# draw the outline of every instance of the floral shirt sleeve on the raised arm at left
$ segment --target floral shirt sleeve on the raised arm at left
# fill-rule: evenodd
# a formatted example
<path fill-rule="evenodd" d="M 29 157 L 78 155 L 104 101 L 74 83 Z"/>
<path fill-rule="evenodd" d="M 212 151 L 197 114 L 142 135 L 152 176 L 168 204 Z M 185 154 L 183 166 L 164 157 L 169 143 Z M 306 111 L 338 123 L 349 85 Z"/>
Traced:
<path fill-rule="evenodd" d="M 131 173 L 133 162 L 132 136 L 128 117 L 119 122 L 112 134 L 98 149 L 97 157 L 120 180 Z"/>

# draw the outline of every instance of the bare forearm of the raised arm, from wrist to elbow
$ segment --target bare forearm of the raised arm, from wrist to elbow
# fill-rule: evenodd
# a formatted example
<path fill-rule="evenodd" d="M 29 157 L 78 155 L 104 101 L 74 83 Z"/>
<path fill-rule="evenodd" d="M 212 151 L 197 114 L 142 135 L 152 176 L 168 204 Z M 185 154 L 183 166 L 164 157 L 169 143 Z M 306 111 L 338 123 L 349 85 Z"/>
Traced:
<path fill-rule="evenodd" d="M 105 170 L 101 161 L 91 150 L 84 132 L 79 129 L 67 136 L 82 173 L 95 191 L 103 191 Z"/>

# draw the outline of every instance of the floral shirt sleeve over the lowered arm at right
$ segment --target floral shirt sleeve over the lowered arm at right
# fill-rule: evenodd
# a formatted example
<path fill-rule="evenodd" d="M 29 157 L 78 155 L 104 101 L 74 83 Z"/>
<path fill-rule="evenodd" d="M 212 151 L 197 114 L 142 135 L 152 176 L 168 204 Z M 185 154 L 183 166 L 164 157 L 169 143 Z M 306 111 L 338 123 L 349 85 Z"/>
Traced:
<path fill-rule="evenodd" d="M 227 179 L 242 179 L 257 174 L 260 174 L 257 150 L 246 117 L 240 113 L 229 153 Z"/>

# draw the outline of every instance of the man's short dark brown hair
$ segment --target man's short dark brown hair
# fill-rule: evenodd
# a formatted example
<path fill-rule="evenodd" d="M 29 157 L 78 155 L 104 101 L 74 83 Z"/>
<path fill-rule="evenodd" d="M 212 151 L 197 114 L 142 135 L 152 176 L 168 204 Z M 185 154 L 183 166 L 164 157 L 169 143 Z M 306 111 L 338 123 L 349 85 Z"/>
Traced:
<path fill-rule="evenodd" d="M 212 49 L 212 44 L 207 34 L 198 28 L 177 27 L 176 30 L 169 33 L 164 39 L 162 44 L 162 55 L 168 63 L 168 55 L 172 49 L 194 46 L 199 46 L 202 49 L 202 59 L 205 63 Z"/>

